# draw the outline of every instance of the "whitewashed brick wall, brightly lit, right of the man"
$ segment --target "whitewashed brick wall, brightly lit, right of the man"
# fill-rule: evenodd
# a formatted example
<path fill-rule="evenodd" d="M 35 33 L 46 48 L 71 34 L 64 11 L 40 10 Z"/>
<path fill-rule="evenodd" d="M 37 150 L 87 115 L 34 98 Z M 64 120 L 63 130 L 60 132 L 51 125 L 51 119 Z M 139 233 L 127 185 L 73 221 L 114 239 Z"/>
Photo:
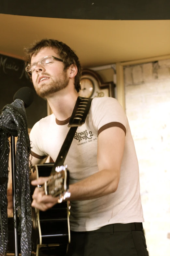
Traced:
<path fill-rule="evenodd" d="M 170 255 L 170 60 L 124 68 L 150 256 Z"/>

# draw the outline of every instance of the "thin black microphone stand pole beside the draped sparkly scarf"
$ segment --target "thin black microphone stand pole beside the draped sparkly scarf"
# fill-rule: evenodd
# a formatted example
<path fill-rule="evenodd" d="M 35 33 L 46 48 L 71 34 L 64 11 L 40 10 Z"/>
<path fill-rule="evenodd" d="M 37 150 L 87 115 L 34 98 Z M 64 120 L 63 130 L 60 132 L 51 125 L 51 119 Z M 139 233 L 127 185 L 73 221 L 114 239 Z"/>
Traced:
<path fill-rule="evenodd" d="M 14 254 L 19 256 L 18 253 L 18 237 L 17 237 L 17 210 L 15 206 L 15 172 L 16 172 L 16 162 L 15 162 L 15 137 L 11 135 L 11 166 L 12 166 L 12 194 L 13 194 L 13 220 L 14 220 Z"/>

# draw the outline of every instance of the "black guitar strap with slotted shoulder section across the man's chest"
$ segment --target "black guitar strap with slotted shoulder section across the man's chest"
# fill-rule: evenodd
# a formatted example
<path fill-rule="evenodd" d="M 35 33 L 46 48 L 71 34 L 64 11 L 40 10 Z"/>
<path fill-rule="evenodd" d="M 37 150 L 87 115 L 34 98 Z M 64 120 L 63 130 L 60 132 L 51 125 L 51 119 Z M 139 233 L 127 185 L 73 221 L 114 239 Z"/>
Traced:
<path fill-rule="evenodd" d="M 73 113 L 70 118 L 70 122 L 68 124 L 68 127 L 70 127 L 70 129 L 69 129 L 67 136 L 64 140 L 64 143 L 60 149 L 58 157 L 52 167 L 51 174 L 56 173 L 55 168 L 57 166 L 64 165 L 66 155 L 67 155 L 70 145 L 73 141 L 76 130 L 77 130 L 78 126 L 81 126 L 85 123 L 85 119 L 90 110 L 91 103 L 92 103 L 92 99 L 78 97 L 78 99 L 76 101 L 76 105 L 73 110 Z"/>

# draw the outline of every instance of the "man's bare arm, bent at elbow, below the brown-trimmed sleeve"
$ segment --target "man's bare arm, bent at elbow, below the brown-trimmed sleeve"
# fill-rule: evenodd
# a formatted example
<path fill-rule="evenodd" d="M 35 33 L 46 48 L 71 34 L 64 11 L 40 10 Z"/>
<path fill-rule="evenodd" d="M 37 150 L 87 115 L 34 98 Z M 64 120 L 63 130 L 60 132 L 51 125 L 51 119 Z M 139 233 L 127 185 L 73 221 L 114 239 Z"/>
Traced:
<path fill-rule="evenodd" d="M 70 200 L 92 199 L 117 190 L 124 142 L 125 133 L 119 127 L 108 128 L 99 134 L 97 152 L 99 172 L 70 185 Z"/>

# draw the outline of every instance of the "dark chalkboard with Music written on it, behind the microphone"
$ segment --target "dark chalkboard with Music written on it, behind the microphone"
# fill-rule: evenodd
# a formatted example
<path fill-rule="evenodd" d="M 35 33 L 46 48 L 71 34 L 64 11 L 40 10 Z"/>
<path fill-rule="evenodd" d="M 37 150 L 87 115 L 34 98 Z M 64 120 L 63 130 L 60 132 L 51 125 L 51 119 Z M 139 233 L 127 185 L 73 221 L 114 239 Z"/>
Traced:
<path fill-rule="evenodd" d="M 34 101 L 26 109 L 28 128 L 47 116 L 47 101 L 36 94 L 23 60 L 0 54 L 0 80 L 0 110 L 13 102 L 14 94 L 21 87 L 28 86 L 34 91 Z"/>

